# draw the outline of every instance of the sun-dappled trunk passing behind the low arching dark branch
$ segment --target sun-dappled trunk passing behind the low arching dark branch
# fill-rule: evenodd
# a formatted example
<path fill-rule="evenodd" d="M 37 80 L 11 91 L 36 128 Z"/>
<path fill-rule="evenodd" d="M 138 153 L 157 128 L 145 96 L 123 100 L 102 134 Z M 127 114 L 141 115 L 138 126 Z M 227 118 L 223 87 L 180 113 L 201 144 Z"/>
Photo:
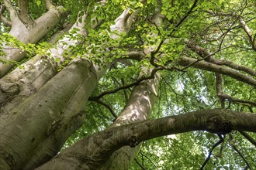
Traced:
<path fill-rule="evenodd" d="M 159 75 L 156 74 L 153 80 L 145 80 L 134 87 L 126 107 L 110 128 L 146 120 L 150 116 L 157 99 L 159 79 Z M 111 155 L 106 164 L 102 165 L 101 169 L 128 169 L 139 149 L 140 146 L 119 148 Z"/>

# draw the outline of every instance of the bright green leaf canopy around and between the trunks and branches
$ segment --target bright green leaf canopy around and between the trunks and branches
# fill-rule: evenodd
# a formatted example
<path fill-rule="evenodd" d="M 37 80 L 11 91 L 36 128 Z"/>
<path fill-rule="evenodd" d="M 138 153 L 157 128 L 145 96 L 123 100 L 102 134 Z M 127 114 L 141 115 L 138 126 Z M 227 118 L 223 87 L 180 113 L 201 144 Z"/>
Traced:
<path fill-rule="evenodd" d="M 122 63 L 120 59 L 128 59 L 127 53 L 130 51 L 144 52 L 144 49 L 150 46 L 161 47 L 155 56 L 155 63 L 158 66 L 173 66 L 175 70 L 161 70 L 161 84 L 157 103 L 151 118 L 164 117 L 168 115 L 184 114 L 192 110 L 206 108 L 220 108 L 221 100 L 216 95 L 216 77 L 215 73 L 205 70 L 198 70 L 179 66 L 178 60 L 182 56 L 189 56 L 199 59 L 200 56 L 185 45 L 185 39 L 192 39 L 198 46 L 206 49 L 209 53 L 214 53 L 215 59 L 226 59 L 243 66 L 256 68 L 256 53 L 247 39 L 246 33 L 241 28 L 238 19 L 234 16 L 209 15 L 207 10 L 214 12 L 236 12 L 256 33 L 256 24 L 254 13 L 256 12 L 255 2 L 250 1 L 207 1 L 200 0 L 198 5 L 192 9 L 192 12 L 186 19 L 179 23 L 187 15 L 194 1 L 157 1 L 148 0 L 143 4 L 140 1 L 107 1 L 106 5 L 98 5 L 95 1 L 64 1 L 54 0 L 54 5 L 63 5 L 69 15 L 63 19 L 62 23 L 74 23 L 79 12 L 87 11 L 90 15 L 86 21 L 92 21 L 93 24 L 102 21 L 102 24 L 95 29 L 91 28 L 91 23 L 85 25 L 87 36 L 79 33 L 79 29 L 73 29 L 64 33 L 59 39 L 66 37 L 69 40 L 78 40 L 80 44 L 69 46 L 65 49 L 63 56 L 67 61 L 61 63 L 61 70 L 72 59 L 86 58 L 92 62 L 103 65 L 104 63 L 114 63 L 111 69 L 99 80 L 97 88 L 92 93 L 92 97 L 98 96 L 104 91 L 122 87 L 125 84 L 135 82 L 142 66 L 150 65 L 150 54 L 143 59 L 130 60 L 129 63 Z M 14 6 L 16 1 L 12 1 Z M 96 5 L 96 7 L 95 7 Z M 45 2 L 41 0 L 29 1 L 29 12 L 32 19 L 37 19 L 46 12 Z M 134 20 L 130 32 L 119 34 L 119 38 L 112 39 L 112 32 L 109 28 L 114 23 L 116 17 L 125 8 L 131 8 L 134 12 L 140 8 L 140 12 Z M 161 9 L 161 14 L 166 16 L 161 26 L 156 26 L 150 22 L 152 15 L 157 9 Z M 80 15 L 84 14 L 83 12 Z M 8 33 L 2 33 L 0 36 L 0 56 L 4 56 L 3 44 L 10 48 L 19 48 L 26 51 L 27 58 L 34 55 L 50 56 L 48 49 L 53 44 L 48 43 L 61 24 L 54 28 L 44 39 L 37 44 L 25 44 Z M 8 32 L 9 29 L 0 25 L 0 30 Z M 254 36 L 255 38 L 255 36 Z M 164 42 L 160 46 L 161 41 Z M 60 42 L 60 41 L 59 41 Z M 67 42 L 62 42 L 67 45 Z M 107 57 L 106 57 L 107 56 Z M 201 57 L 202 58 L 202 57 Z M 0 58 L 2 63 L 5 59 Z M 8 62 L 20 63 L 9 60 Z M 57 62 L 59 62 L 57 60 Z M 164 68 L 165 68 L 164 67 Z M 254 87 L 249 87 L 246 83 L 234 80 L 229 76 L 223 76 L 223 93 L 240 100 L 255 101 L 256 91 Z M 126 104 L 127 96 L 132 88 L 119 90 L 116 93 L 110 93 L 101 98 L 118 115 Z M 255 112 L 255 107 L 249 108 L 246 104 L 236 103 L 232 100 L 225 100 L 225 108 L 230 110 L 241 110 Z M 86 107 L 85 124 L 76 131 L 71 138 L 67 140 L 66 148 L 85 136 L 102 131 L 109 127 L 115 120 L 109 109 L 99 103 L 89 101 Z M 246 141 L 239 133 L 234 132 L 232 141 L 226 137 L 223 145 L 213 151 L 213 156 L 206 166 L 216 169 L 243 169 L 246 165 L 237 155 L 230 143 L 234 143 L 239 151 L 242 151 L 250 164 L 256 167 L 255 148 L 250 142 Z M 251 134 L 256 138 L 255 134 Z M 185 134 L 176 134 L 155 138 L 145 141 L 139 154 L 137 162 L 140 162 L 145 169 L 199 169 L 202 162 L 206 159 L 209 149 L 219 140 L 217 136 L 205 132 L 189 132 Z M 223 151 L 222 150 L 223 147 Z M 136 162 L 133 162 L 130 169 L 140 169 Z"/>

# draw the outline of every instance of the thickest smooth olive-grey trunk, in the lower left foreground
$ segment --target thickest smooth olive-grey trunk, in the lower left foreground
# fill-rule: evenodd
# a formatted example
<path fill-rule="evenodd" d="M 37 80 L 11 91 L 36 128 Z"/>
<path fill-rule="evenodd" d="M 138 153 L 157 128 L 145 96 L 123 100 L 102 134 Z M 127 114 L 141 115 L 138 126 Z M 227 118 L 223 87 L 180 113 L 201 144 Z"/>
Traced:
<path fill-rule="evenodd" d="M 112 29 L 127 31 L 131 15 L 126 9 Z M 5 122 L 0 125 L 2 168 L 36 168 L 56 155 L 64 141 L 81 126 L 85 116 L 81 110 L 109 65 L 97 66 L 87 59 L 78 59 L 9 114 L 2 114 L 1 121 Z"/>

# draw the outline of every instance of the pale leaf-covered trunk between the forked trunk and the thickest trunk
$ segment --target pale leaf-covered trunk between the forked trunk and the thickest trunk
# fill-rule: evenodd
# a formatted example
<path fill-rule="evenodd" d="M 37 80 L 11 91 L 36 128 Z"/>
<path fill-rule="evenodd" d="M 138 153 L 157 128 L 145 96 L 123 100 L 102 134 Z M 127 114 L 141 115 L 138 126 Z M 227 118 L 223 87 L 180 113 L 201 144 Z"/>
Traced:
<path fill-rule="evenodd" d="M 83 15 L 78 19 L 83 21 L 86 16 Z M 77 29 L 78 31 L 74 36 L 78 36 L 78 34 L 79 36 L 86 36 L 84 26 L 85 22 L 77 21 L 68 32 Z M 36 55 L 22 64 L 24 68 L 17 67 L 12 73 L 2 77 L 0 80 L 0 113 L 8 113 L 26 97 L 40 90 L 48 80 L 56 75 L 57 67 L 61 66 L 65 59 L 68 59 L 63 56 L 65 49 L 78 43 L 79 39 L 70 39 L 70 37 L 64 36 L 54 44 L 54 47 L 47 50 L 46 55 Z M 50 53 L 50 56 L 47 53 Z"/>

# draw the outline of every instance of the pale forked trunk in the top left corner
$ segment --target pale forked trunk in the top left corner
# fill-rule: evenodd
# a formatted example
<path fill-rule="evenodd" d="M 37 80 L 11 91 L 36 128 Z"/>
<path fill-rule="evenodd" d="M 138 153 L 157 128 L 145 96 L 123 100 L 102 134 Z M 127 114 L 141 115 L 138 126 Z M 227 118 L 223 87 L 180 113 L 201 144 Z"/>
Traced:
<path fill-rule="evenodd" d="M 9 34 L 23 43 L 36 43 L 50 32 L 57 23 L 64 17 L 64 8 L 61 6 L 50 8 L 50 10 L 40 18 L 25 23 L 19 18 L 19 12 L 12 7 L 7 0 L 4 1 L 5 6 L 9 9 L 11 15 L 12 29 Z M 21 49 L 12 48 L 12 46 L 4 46 L 5 56 L 1 59 L 20 61 L 26 55 Z M 5 76 L 13 67 L 12 63 L 0 63 L 0 78 Z"/>

